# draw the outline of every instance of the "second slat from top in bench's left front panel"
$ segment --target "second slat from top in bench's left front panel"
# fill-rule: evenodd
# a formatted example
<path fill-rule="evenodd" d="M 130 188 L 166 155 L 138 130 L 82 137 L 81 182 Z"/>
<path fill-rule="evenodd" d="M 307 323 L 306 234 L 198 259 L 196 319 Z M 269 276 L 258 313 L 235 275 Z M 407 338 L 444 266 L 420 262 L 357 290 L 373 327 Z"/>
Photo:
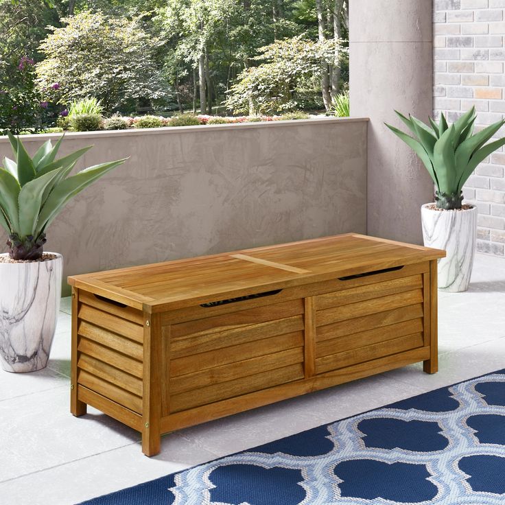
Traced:
<path fill-rule="evenodd" d="M 178 338 L 171 336 L 170 355 L 172 359 L 175 359 L 212 351 L 213 349 L 223 349 L 230 345 L 244 344 L 276 335 L 293 333 L 303 329 L 303 316 L 292 316 L 285 319 L 261 322 L 258 325 L 249 325 L 216 333 L 205 333 L 200 336 L 190 335 Z"/>

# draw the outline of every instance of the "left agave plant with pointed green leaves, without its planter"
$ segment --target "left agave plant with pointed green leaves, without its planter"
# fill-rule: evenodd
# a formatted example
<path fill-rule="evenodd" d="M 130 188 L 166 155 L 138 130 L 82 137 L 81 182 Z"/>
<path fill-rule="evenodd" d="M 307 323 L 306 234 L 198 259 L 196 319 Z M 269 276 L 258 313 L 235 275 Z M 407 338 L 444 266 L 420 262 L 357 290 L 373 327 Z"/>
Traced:
<path fill-rule="evenodd" d="M 9 235 L 12 259 L 38 259 L 43 255 L 47 226 L 65 204 L 125 159 L 109 161 L 69 176 L 78 159 L 89 149 L 56 159 L 63 137 L 56 145 L 45 142 L 33 158 L 19 138 L 8 132 L 14 160 L 3 158 L 0 167 L 0 225 Z"/>

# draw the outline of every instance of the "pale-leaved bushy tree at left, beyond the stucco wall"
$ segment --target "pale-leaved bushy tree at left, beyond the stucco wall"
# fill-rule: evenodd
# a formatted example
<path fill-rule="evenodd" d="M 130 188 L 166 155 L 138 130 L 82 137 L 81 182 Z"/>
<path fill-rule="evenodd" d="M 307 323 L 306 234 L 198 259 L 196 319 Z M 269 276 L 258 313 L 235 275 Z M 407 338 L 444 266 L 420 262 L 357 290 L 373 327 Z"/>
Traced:
<path fill-rule="evenodd" d="M 154 58 L 159 42 L 138 18 L 86 11 L 61 21 L 64 27 L 51 28 L 41 43 L 45 60 L 36 67 L 40 88 L 61 103 L 95 96 L 111 111 L 137 99 L 169 95 Z M 51 91 L 54 82 L 60 88 Z"/>

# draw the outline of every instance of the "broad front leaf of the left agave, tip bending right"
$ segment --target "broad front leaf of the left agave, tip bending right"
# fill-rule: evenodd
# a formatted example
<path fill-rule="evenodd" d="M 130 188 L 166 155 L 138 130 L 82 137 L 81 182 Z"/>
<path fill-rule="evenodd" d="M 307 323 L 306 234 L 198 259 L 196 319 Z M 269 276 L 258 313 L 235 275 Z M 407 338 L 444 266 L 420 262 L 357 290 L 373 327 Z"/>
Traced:
<path fill-rule="evenodd" d="M 53 170 L 26 183 L 19 192 L 19 235 L 35 235 L 40 207 L 44 202 L 45 190 L 51 187 L 54 178 L 58 176 L 58 170 Z"/>

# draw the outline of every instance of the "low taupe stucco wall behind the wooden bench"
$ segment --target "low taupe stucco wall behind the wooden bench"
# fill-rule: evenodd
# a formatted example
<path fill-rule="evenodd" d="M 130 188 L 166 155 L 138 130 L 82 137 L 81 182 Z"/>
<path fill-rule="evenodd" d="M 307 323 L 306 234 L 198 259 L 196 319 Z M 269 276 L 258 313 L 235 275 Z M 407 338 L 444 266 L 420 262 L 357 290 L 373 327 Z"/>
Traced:
<path fill-rule="evenodd" d="M 46 250 L 62 253 L 67 276 L 364 233 L 366 128 L 366 119 L 327 118 L 67 134 L 62 154 L 94 144 L 86 166 L 130 159 L 68 204 Z M 33 153 L 49 137 L 58 135 L 23 142 Z"/>

